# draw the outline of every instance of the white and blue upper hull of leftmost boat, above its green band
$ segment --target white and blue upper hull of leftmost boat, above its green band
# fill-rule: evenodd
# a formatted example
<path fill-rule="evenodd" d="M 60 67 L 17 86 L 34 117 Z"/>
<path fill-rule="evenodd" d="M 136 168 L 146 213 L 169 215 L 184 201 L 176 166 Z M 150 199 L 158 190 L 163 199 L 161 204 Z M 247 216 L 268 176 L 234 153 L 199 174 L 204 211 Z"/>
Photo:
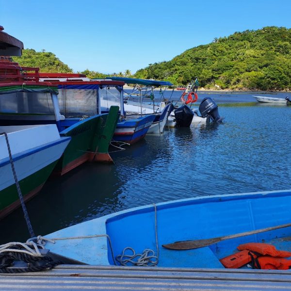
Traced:
<path fill-rule="evenodd" d="M 0 130 L 8 132 L 18 180 L 27 178 L 60 159 L 70 142 L 70 137 L 60 137 L 56 125 L 0 127 Z M 4 135 L 0 136 L 0 148 L 1 191 L 13 185 L 15 180 Z"/>

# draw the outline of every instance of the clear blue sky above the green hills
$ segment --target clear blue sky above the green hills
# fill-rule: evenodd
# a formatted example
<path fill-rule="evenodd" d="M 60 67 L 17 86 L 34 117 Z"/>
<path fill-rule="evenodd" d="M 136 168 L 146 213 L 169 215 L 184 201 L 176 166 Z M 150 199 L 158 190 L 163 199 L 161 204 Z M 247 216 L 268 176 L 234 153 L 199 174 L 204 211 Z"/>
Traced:
<path fill-rule="evenodd" d="M 291 28 L 290 13 L 291 0 L 0 0 L 0 25 L 25 48 L 102 73 L 135 72 L 233 32 Z"/>

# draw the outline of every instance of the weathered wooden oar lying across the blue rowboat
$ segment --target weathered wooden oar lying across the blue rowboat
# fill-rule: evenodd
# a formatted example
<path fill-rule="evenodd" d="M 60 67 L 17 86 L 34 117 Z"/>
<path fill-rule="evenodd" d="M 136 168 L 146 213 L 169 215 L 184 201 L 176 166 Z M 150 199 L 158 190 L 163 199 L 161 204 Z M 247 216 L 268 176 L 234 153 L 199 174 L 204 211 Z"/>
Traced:
<path fill-rule="evenodd" d="M 291 223 L 287 223 L 284 225 L 280 226 L 272 226 L 272 227 L 266 227 L 266 228 L 261 228 L 257 230 L 251 230 L 251 231 L 246 231 L 246 232 L 241 232 L 237 234 L 230 234 L 222 237 L 217 237 L 217 238 L 212 238 L 212 239 L 203 239 L 203 240 L 194 240 L 194 241 L 180 241 L 180 242 L 174 242 L 174 243 L 169 243 L 169 244 L 163 244 L 162 246 L 171 250 L 190 250 L 190 249 L 195 249 L 203 246 L 208 246 L 210 244 L 216 243 L 216 242 L 221 242 L 229 239 L 235 239 L 239 238 L 242 236 L 246 235 L 251 235 L 251 234 L 256 234 L 260 232 L 265 232 L 269 230 L 274 230 L 278 228 L 284 228 L 284 227 L 289 227 L 291 226 Z"/>

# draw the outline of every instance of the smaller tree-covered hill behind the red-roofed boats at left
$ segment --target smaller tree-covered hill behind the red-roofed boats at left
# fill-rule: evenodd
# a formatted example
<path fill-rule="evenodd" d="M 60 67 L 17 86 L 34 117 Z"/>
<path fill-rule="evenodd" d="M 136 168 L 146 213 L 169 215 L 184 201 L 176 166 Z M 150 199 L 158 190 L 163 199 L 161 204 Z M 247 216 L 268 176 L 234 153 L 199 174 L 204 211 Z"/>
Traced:
<path fill-rule="evenodd" d="M 13 57 L 19 65 L 39 67 L 45 73 L 72 73 L 72 69 L 61 62 L 55 54 L 45 50 L 39 52 L 34 49 L 23 49 L 21 57 Z"/>

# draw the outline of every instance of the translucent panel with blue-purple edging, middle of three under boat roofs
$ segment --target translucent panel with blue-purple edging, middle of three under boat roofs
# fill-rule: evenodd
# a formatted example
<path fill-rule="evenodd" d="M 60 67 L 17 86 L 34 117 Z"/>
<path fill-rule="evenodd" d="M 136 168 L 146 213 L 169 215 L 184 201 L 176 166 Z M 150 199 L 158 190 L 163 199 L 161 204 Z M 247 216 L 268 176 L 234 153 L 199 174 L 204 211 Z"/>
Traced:
<path fill-rule="evenodd" d="M 59 89 L 60 113 L 66 118 L 98 114 L 97 89 Z"/>

